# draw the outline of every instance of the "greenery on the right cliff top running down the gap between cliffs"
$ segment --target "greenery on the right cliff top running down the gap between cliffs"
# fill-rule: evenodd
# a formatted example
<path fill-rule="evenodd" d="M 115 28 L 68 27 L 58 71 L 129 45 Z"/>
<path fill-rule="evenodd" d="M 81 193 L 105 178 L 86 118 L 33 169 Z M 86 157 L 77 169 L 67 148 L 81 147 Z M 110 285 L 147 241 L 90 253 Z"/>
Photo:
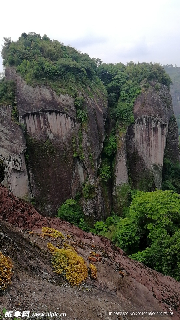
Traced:
<path fill-rule="evenodd" d="M 133 61 L 98 66 L 98 76 L 108 92 L 110 132 L 107 130 L 102 150 L 102 163 L 99 176 L 107 181 L 113 177 L 113 164 L 119 144 L 119 136 L 126 133 L 127 126 L 134 123 L 133 108 L 135 99 L 141 92 L 150 88 L 153 81 L 170 87 L 171 78 L 159 63 L 139 63 Z M 150 82 L 150 83 L 149 83 Z M 152 83 L 151 83 L 152 84 Z M 152 84 L 154 85 L 154 84 Z M 110 175 L 111 171 L 111 175 Z"/>

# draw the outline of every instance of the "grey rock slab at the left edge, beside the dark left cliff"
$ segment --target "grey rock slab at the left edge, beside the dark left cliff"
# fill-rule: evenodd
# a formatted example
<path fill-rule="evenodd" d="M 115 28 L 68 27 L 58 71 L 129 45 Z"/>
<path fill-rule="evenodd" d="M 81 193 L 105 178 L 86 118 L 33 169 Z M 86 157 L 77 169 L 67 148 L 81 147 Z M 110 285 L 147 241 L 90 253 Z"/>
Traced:
<path fill-rule="evenodd" d="M 26 142 L 18 124 L 11 120 L 11 107 L 0 107 L 0 159 L 5 166 L 3 184 L 18 197 L 31 195 L 24 153 Z"/>

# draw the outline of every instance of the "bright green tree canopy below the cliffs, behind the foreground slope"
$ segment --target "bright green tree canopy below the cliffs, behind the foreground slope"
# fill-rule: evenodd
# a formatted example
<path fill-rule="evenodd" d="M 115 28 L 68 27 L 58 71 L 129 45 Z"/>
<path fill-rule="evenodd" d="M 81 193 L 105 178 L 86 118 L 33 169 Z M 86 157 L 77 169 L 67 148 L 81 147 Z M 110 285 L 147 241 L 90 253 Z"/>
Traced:
<path fill-rule="evenodd" d="M 127 208 L 128 209 L 128 208 Z M 180 195 L 171 190 L 137 191 L 124 217 L 96 222 L 130 258 L 180 281 Z"/>

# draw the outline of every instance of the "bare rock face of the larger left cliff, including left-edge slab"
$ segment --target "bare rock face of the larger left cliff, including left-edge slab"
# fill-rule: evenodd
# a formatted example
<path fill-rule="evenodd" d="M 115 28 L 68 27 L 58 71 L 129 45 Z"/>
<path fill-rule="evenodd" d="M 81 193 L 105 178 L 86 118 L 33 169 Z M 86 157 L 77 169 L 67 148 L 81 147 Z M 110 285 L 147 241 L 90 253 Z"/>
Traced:
<path fill-rule="evenodd" d="M 83 126 L 76 119 L 76 108 L 70 96 L 57 96 L 48 85 L 31 87 L 14 68 L 7 67 L 5 77 L 16 82 L 17 109 L 25 136 L 20 126 L 12 123 L 8 107 L 4 124 L 9 136 L 3 138 L 6 143 L 0 149 L 6 167 L 3 183 L 16 196 L 34 197 L 37 208 L 52 215 L 66 199 L 82 191 L 87 177 L 90 184 L 98 182 L 96 172 L 104 141 L 106 99 L 101 97 L 97 103 L 95 96 L 91 99 L 85 94 L 88 122 Z M 79 150 L 83 161 L 77 156 Z M 96 212 L 102 218 L 100 194 L 95 196 L 91 206 L 86 199 L 87 215 Z"/>

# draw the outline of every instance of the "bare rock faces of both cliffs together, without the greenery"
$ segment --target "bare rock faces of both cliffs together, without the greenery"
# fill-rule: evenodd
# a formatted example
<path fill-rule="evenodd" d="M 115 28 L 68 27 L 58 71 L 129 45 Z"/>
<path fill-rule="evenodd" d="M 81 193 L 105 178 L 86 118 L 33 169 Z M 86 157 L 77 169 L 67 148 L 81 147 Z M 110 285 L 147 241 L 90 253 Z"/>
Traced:
<path fill-rule="evenodd" d="M 122 214 L 132 188 L 161 188 L 164 153 L 179 161 L 178 129 L 168 86 L 141 83 L 134 103 L 135 121 L 117 127 L 117 152 L 111 183 L 98 177 L 102 161 L 108 103 L 101 91 L 83 91 L 86 121 L 77 116 L 75 100 L 46 85 L 30 86 L 14 67 L 5 77 L 16 83 L 19 123 L 11 107 L 1 107 L 0 157 L 5 164 L 3 184 L 14 195 L 36 201 L 46 215 L 54 215 L 68 198 L 80 192 L 83 211 L 94 220 Z M 82 92 L 79 91 L 79 97 Z M 83 186 L 86 185 L 86 194 Z"/>

